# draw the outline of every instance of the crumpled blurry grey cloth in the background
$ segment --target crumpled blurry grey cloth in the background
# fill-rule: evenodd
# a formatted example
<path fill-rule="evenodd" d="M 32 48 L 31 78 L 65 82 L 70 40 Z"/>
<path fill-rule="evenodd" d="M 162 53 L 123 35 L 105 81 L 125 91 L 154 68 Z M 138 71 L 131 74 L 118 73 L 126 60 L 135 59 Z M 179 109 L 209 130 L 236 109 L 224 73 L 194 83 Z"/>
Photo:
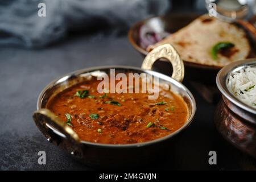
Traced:
<path fill-rule="evenodd" d="M 46 17 L 38 16 L 40 2 L 46 3 Z M 68 30 L 98 24 L 118 31 L 170 6 L 169 0 L 0 0 L 0 46 L 44 47 Z"/>

